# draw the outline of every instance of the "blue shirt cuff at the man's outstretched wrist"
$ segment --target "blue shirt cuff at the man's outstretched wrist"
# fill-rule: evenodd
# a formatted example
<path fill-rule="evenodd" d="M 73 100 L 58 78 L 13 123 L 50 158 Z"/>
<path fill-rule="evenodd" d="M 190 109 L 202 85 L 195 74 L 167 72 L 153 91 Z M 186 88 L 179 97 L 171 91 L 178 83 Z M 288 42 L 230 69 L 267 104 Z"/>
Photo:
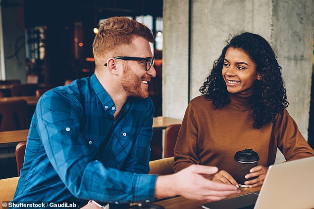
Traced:
<path fill-rule="evenodd" d="M 158 175 L 140 174 L 134 181 L 133 203 L 150 203 L 155 201 L 155 185 Z"/>

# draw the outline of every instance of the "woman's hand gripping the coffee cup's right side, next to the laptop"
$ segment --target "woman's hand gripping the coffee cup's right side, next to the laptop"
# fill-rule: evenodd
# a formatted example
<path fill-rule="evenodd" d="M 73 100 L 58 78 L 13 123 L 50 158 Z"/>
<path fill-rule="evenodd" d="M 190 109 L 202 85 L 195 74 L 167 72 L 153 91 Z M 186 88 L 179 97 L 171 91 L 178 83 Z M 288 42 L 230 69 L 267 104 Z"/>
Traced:
<path fill-rule="evenodd" d="M 248 178 L 252 178 L 255 176 L 258 176 L 258 177 L 255 179 L 249 180 L 249 181 L 245 181 L 244 184 L 249 185 L 250 188 L 262 185 L 264 182 L 267 170 L 268 170 L 268 167 L 264 167 L 261 165 L 253 167 L 250 170 L 250 173 L 245 175 L 245 178 L 248 179 Z"/>

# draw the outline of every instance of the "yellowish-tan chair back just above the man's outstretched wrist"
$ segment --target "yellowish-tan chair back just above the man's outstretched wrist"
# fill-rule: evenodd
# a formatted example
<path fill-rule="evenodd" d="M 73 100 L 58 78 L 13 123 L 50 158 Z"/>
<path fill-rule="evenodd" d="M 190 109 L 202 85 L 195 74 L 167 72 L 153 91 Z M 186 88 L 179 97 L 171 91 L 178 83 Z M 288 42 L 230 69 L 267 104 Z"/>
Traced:
<path fill-rule="evenodd" d="M 173 157 L 150 161 L 149 174 L 157 174 L 157 175 L 172 174 L 174 173 L 173 163 L 174 163 Z"/>

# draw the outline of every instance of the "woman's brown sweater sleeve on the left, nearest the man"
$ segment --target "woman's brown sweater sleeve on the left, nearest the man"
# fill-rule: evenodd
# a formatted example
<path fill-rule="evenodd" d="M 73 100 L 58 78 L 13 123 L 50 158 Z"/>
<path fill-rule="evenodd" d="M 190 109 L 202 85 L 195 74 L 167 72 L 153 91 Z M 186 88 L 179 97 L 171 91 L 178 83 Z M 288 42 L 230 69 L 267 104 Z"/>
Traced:
<path fill-rule="evenodd" d="M 193 102 L 192 102 L 193 103 Z M 192 104 L 190 103 L 180 127 L 174 148 L 173 169 L 178 172 L 193 164 L 200 164 L 197 151 L 198 129 Z"/>

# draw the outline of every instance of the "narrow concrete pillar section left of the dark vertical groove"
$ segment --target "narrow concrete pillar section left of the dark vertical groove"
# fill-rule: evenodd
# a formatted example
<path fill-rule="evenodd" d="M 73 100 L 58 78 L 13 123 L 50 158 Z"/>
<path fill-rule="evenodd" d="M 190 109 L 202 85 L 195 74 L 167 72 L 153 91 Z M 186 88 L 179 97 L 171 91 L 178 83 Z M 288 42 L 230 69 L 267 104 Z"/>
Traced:
<path fill-rule="evenodd" d="M 162 114 L 183 118 L 188 105 L 189 0 L 163 1 Z"/>

